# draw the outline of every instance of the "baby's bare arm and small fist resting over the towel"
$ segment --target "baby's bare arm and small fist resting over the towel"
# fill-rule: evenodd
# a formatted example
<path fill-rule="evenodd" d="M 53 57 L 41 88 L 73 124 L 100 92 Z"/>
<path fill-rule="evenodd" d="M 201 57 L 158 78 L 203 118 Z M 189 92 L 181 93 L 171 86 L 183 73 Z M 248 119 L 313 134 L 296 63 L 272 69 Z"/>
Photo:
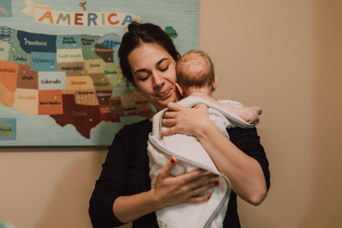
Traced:
<path fill-rule="evenodd" d="M 257 122 L 259 115 L 262 114 L 262 109 L 259 106 L 251 106 L 245 108 L 236 108 L 229 103 L 220 103 L 222 108 L 233 112 L 235 115 L 244 119 L 247 123 Z"/>

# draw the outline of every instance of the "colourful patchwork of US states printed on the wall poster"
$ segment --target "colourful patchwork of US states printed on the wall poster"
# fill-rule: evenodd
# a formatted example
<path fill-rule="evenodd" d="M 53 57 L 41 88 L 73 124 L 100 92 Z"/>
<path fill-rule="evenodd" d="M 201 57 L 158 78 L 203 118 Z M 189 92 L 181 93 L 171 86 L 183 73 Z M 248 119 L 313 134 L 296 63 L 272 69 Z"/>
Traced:
<path fill-rule="evenodd" d="M 122 80 L 120 41 L 115 33 L 47 35 L 0 26 L 0 103 L 72 124 L 85 138 L 102 121 L 151 117 L 149 102 Z"/>

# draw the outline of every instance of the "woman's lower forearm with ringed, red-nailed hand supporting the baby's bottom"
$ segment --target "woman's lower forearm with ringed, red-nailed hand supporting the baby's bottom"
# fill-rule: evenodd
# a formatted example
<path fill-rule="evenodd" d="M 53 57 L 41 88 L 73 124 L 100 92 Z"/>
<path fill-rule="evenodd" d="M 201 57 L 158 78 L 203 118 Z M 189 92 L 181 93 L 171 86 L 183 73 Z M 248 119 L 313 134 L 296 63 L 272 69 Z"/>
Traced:
<path fill-rule="evenodd" d="M 132 196 L 118 197 L 113 203 L 113 212 L 122 223 L 133 220 L 158 211 L 166 206 L 179 203 L 200 203 L 210 199 L 210 194 L 193 196 L 193 189 L 197 192 L 207 192 L 214 188 L 215 178 L 213 173 L 206 170 L 196 169 L 192 172 L 170 176 L 177 159 L 172 157 L 160 170 L 157 181 L 151 190 Z"/>

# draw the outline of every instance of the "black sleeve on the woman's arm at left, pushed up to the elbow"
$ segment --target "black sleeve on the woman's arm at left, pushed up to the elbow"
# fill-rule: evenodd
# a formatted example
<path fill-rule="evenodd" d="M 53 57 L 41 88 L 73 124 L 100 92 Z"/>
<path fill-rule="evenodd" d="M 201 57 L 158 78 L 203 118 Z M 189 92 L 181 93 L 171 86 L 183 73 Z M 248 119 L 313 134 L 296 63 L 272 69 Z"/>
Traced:
<path fill-rule="evenodd" d="M 127 176 L 129 161 L 124 142 L 128 142 L 128 133 L 122 128 L 116 135 L 102 172 L 96 181 L 89 202 L 89 216 L 94 228 L 111 228 L 123 225 L 113 213 L 113 203 L 120 196 L 127 196 Z"/>

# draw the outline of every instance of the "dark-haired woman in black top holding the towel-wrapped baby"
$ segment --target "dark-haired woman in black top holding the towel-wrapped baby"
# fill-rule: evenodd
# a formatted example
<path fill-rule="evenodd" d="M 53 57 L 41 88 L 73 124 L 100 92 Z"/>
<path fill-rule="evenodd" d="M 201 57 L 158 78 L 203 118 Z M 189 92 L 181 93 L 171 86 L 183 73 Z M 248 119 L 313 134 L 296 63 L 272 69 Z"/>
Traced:
<path fill-rule="evenodd" d="M 133 22 L 122 37 L 120 67 L 127 82 L 141 92 L 156 109 L 168 108 L 162 120 L 172 126 L 163 135 L 196 136 L 221 173 L 232 184 L 224 227 L 240 227 L 236 194 L 258 205 L 269 188 L 268 162 L 256 129 L 228 129 L 228 140 L 209 119 L 205 105 L 186 108 L 174 102 L 176 61 L 180 57 L 166 32 L 153 24 Z M 124 126 L 108 147 L 102 172 L 90 199 L 89 215 L 95 228 L 158 227 L 155 211 L 183 202 L 206 201 L 200 195 L 218 183 L 215 175 L 195 170 L 177 177 L 168 174 L 177 160 L 171 158 L 150 188 L 147 155 L 152 123 L 143 120 Z M 235 144 L 235 145 L 234 145 Z M 205 184 L 206 183 L 206 184 Z"/>

